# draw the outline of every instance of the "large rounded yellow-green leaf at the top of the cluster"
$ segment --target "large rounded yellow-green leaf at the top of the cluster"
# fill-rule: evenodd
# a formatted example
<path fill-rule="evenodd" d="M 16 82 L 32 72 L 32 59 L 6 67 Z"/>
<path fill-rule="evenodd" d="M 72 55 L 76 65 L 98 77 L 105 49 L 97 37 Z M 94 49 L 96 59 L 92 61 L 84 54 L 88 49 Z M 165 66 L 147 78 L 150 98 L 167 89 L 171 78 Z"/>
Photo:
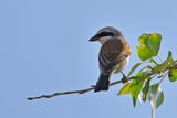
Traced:
<path fill-rule="evenodd" d="M 143 34 L 139 39 L 139 45 L 136 46 L 138 57 L 142 61 L 152 58 L 158 54 L 162 35 L 158 33 Z"/>

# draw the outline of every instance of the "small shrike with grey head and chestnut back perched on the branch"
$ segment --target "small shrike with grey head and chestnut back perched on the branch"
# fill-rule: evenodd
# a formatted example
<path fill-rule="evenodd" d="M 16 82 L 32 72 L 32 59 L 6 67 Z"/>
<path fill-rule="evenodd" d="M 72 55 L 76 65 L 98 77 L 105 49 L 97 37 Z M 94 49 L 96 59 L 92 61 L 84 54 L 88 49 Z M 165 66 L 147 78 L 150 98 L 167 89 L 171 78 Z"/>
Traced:
<path fill-rule="evenodd" d="M 105 26 L 90 39 L 90 42 L 98 41 L 102 46 L 98 53 L 100 76 L 94 92 L 108 90 L 111 75 L 122 73 L 128 64 L 132 50 L 121 31 L 114 26 Z M 124 83 L 124 82 L 123 82 Z"/>

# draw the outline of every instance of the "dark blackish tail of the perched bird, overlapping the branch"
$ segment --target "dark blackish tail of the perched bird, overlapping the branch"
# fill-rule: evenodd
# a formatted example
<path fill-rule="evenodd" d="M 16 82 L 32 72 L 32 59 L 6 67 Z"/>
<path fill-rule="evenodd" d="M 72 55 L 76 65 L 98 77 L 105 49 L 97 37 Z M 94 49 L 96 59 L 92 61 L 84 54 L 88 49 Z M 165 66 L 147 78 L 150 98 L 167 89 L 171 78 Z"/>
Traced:
<path fill-rule="evenodd" d="M 110 74 L 107 75 L 100 74 L 94 92 L 108 90 L 108 85 L 110 85 Z"/>

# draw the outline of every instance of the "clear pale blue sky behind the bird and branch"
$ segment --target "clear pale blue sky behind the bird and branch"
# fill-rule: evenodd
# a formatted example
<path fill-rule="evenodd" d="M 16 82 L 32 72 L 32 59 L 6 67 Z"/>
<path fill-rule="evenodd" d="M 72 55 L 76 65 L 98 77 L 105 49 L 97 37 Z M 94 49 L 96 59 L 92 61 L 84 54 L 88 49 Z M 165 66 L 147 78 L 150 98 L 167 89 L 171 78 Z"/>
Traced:
<path fill-rule="evenodd" d="M 119 29 L 133 49 L 129 68 L 139 60 L 142 33 L 163 35 L 159 55 L 177 57 L 176 0 L 1 0 L 1 118 L 149 118 L 149 103 L 134 109 L 129 96 L 88 93 L 28 101 L 29 96 L 82 89 L 97 81 L 98 43 L 88 39 L 101 28 Z M 115 75 L 116 81 L 121 75 Z M 176 115 L 177 83 L 162 84 L 165 101 L 157 118 Z"/>

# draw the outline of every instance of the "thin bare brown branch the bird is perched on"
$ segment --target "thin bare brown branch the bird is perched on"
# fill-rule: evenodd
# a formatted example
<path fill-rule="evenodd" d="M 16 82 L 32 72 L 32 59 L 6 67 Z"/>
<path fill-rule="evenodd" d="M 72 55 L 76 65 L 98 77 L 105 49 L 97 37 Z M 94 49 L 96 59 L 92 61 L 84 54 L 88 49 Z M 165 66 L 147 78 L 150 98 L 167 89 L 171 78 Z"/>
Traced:
<path fill-rule="evenodd" d="M 129 78 L 126 78 L 126 81 L 131 81 L 131 79 L 133 79 L 133 76 L 129 77 Z M 110 86 L 113 86 L 113 85 L 116 85 L 116 84 L 119 84 L 119 83 L 124 83 L 124 82 L 125 82 L 125 78 L 122 78 L 119 81 L 111 83 Z M 62 93 L 53 93 L 53 94 L 50 94 L 50 95 L 41 95 L 41 96 L 38 96 L 38 97 L 29 97 L 27 99 L 28 100 L 34 100 L 34 99 L 41 99 L 41 98 L 51 98 L 51 97 L 61 96 L 61 95 L 85 94 L 85 93 L 88 93 L 88 92 L 92 92 L 92 90 L 94 90 L 94 86 L 92 86 L 90 88 L 86 88 L 86 89 L 69 90 L 69 92 L 62 92 Z"/>

